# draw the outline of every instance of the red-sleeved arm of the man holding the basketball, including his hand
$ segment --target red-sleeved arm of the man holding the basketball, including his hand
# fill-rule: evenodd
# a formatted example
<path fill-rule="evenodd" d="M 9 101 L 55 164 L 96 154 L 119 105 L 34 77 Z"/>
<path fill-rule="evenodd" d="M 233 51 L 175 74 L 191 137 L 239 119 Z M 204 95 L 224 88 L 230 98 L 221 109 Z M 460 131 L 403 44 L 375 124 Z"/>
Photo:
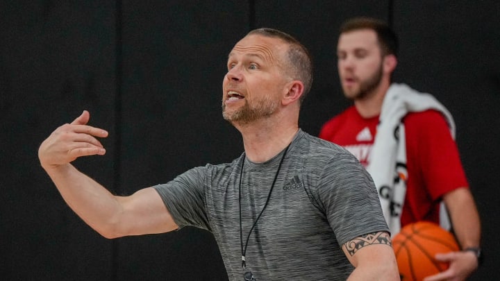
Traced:
<path fill-rule="evenodd" d="M 479 247 L 481 225 L 476 203 L 467 187 L 458 146 L 449 133 L 445 119 L 433 110 L 415 114 L 413 124 L 408 124 L 407 131 L 410 129 L 421 134 L 417 140 L 428 191 L 433 198 L 442 198 L 462 248 L 459 252 L 437 255 L 436 259 L 450 263 L 449 269 L 424 280 L 465 280 L 478 268 L 478 258 L 472 251 L 463 249 Z"/>

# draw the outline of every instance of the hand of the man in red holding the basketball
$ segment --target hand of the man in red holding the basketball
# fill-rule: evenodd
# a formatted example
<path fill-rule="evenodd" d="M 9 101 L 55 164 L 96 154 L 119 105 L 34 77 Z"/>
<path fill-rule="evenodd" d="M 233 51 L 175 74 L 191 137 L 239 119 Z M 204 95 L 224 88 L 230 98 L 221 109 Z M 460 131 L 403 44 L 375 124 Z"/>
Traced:
<path fill-rule="evenodd" d="M 472 252 L 451 252 L 435 255 L 435 259 L 440 262 L 449 262 L 449 268 L 441 273 L 429 276 L 424 281 L 463 281 L 467 280 L 478 268 L 478 260 Z"/>

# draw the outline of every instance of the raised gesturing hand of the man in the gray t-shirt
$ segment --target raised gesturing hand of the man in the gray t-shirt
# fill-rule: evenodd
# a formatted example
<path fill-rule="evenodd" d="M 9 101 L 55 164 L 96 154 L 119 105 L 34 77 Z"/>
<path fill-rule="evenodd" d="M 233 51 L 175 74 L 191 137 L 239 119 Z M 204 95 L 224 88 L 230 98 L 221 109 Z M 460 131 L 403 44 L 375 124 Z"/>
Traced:
<path fill-rule="evenodd" d="M 87 110 L 71 124 L 60 126 L 42 142 L 38 158 L 44 169 L 58 167 L 88 155 L 103 155 L 106 150 L 97 137 L 107 137 L 108 132 L 88 126 L 90 114 Z"/>

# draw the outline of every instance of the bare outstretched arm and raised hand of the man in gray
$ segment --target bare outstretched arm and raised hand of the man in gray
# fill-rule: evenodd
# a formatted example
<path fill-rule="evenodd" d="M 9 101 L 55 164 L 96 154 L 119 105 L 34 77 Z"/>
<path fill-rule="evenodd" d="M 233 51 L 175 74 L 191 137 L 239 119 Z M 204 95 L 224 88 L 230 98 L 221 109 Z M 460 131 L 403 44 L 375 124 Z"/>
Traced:
<path fill-rule="evenodd" d="M 105 153 L 97 137 L 106 137 L 108 133 L 87 126 L 89 118 L 85 111 L 72 124 L 60 126 L 38 150 L 40 164 L 69 207 L 108 238 L 176 229 L 177 225 L 154 189 L 142 189 L 128 197 L 114 196 L 70 164 L 77 157 Z"/>

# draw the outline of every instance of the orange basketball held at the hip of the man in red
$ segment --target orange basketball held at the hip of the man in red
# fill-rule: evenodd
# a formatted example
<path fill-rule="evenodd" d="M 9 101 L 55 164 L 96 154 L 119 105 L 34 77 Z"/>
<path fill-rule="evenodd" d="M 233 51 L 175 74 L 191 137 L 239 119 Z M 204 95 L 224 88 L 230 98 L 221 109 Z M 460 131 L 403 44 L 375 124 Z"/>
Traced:
<path fill-rule="evenodd" d="M 447 262 L 434 259 L 437 253 L 458 251 L 455 237 L 428 221 L 411 223 L 401 228 L 392 239 L 401 281 L 421 281 L 448 269 Z"/>

